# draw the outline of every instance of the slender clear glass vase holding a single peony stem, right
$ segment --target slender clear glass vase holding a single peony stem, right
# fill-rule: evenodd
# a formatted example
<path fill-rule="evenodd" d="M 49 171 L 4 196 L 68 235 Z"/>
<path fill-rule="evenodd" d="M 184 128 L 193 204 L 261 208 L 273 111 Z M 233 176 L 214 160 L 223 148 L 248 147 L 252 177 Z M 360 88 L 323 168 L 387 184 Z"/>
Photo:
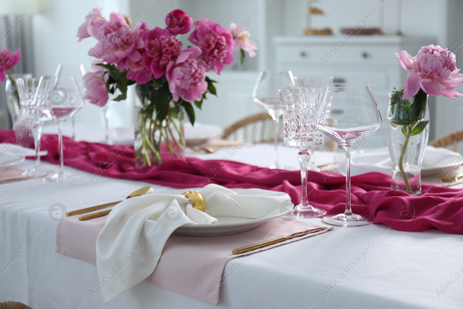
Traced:
<path fill-rule="evenodd" d="M 389 100 L 391 100 L 389 95 Z M 414 98 L 410 100 L 413 102 Z M 428 95 L 425 96 L 427 102 Z M 392 160 L 391 190 L 409 195 L 421 195 L 421 163 L 429 138 L 429 113 L 423 109 L 418 120 L 407 118 L 391 110 L 389 105 L 386 136 Z M 398 108 L 396 108 L 398 110 Z"/>

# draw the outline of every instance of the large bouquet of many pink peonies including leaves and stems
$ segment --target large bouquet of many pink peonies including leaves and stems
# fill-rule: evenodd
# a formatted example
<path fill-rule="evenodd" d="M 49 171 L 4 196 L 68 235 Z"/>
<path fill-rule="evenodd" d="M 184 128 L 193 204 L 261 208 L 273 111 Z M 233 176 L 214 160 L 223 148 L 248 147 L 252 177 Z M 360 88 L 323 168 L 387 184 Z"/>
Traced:
<path fill-rule="evenodd" d="M 96 60 L 83 76 L 85 98 L 90 103 L 102 107 L 117 94 L 113 101 L 125 100 L 127 87 L 136 84 L 142 103 L 139 150 L 143 151 L 143 164 L 149 165 L 152 158 L 161 163 L 163 143 L 179 157 L 175 145 L 181 148 L 184 139 L 175 121 L 187 114 L 193 124 L 193 104 L 201 108 L 206 93 L 216 95 L 215 81 L 206 73 L 212 69 L 220 74 L 235 59 L 234 50 L 240 50 L 241 63 L 245 52 L 255 57 L 257 50 L 242 26 L 231 24 L 227 29 L 213 20 L 193 21 L 179 9 L 167 14 L 165 23 L 164 28 L 150 29 L 146 23 L 134 24 L 120 13 L 113 12 L 105 19 L 100 9 L 94 8 L 77 31 L 78 41 L 97 40 L 88 51 Z M 188 32 L 192 45 L 184 47 L 177 36 Z"/>

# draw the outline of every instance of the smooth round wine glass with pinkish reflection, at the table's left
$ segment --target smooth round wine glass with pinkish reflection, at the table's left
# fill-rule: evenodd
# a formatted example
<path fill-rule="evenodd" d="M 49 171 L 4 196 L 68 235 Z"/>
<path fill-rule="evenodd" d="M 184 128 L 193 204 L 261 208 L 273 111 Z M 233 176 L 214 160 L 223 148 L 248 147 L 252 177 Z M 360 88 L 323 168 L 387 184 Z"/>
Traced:
<path fill-rule="evenodd" d="M 58 127 L 58 151 L 59 151 L 59 171 L 45 177 L 44 181 L 63 183 L 80 179 L 79 176 L 68 175 L 63 171 L 63 122 L 71 118 L 84 105 L 81 89 L 79 88 L 74 76 L 61 76 L 60 86 L 50 89 L 48 95 L 48 105 L 44 108 L 44 113 L 51 120 L 56 122 Z"/>

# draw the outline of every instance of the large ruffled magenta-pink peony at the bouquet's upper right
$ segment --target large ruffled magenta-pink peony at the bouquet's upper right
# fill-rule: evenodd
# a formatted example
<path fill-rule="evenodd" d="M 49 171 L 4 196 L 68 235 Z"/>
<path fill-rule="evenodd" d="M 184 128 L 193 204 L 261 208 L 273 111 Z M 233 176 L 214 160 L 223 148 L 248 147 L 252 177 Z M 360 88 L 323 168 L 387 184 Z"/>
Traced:
<path fill-rule="evenodd" d="M 225 64 L 231 64 L 235 59 L 232 35 L 227 28 L 207 19 L 196 20 L 194 28 L 188 40 L 200 47 L 200 57 L 212 66 L 217 74 L 220 74 Z"/>

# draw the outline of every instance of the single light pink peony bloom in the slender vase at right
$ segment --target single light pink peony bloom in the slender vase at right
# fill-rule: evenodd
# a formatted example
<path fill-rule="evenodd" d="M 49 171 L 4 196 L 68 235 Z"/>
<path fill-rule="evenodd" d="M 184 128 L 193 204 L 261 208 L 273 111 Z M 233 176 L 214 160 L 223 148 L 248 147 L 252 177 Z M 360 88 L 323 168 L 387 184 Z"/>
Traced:
<path fill-rule="evenodd" d="M 407 51 L 400 51 L 399 58 L 402 69 L 407 70 L 403 99 L 416 95 L 419 88 L 428 95 L 444 95 L 457 99 L 462 95 L 455 90 L 463 85 L 463 74 L 458 74 L 455 54 L 439 45 L 423 46 L 416 57 Z"/>

